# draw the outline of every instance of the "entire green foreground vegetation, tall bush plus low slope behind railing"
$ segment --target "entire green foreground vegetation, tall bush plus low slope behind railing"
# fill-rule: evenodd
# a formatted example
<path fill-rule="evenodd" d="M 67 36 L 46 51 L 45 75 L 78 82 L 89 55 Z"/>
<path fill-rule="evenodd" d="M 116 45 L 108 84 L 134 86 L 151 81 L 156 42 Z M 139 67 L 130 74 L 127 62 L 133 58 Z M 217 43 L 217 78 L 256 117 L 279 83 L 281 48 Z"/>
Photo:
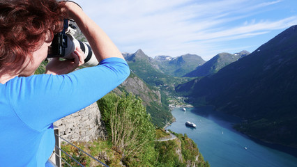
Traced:
<path fill-rule="evenodd" d="M 155 141 L 169 134 L 164 129 L 154 129 L 150 115 L 137 97 L 109 93 L 98 100 L 98 106 L 107 127 L 107 141 L 75 145 L 108 166 L 209 166 L 197 145 L 186 135 L 175 134 L 177 138 L 173 140 Z M 73 146 L 63 144 L 62 148 L 84 166 L 100 166 Z M 63 158 L 77 166 L 65 154 Z"/>

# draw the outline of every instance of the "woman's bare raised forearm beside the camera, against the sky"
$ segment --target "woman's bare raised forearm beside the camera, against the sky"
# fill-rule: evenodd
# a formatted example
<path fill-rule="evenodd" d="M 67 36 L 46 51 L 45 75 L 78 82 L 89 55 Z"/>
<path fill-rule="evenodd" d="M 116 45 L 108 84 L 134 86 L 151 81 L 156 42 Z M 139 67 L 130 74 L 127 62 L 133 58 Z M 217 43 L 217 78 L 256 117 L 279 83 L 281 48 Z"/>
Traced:
<path fill-rule="evenodd" d="M 102 31 L 100 26 L 84 13 L 82 8 L 73 2 L 67 1 L 66 10 L 68 10 L 69 17 L 75 19 L 79 29 L 86 36 L 98 62 L 110 57 L 123 58 L 121 52 L 116 45 L 114 45 L 112 40 Z"/>

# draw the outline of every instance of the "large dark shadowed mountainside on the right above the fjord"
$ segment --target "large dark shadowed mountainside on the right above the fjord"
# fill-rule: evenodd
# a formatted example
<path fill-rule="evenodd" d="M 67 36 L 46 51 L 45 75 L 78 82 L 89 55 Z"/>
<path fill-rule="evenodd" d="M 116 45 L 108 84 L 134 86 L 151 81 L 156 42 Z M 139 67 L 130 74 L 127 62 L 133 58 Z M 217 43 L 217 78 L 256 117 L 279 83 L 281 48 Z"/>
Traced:
<path fill-rule="evenodd" d="M 297 148 L 297 26 L 218 73 L 180 85 L 196 104 L 243 118 L 239 131 Z"/>

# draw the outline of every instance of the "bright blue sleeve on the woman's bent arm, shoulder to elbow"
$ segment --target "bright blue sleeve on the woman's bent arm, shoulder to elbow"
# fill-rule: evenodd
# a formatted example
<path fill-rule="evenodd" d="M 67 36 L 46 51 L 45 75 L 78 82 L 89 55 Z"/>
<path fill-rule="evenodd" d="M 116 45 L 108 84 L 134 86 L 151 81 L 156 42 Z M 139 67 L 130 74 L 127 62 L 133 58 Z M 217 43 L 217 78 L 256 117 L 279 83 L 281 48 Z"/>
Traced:
<path fill-rule="evenodd" d="M 40 74 L 10 80 L 10 104 L 29 127 L 41 131 L 119 86 L 130 74 L 121 58 L 64 75 Z"/>

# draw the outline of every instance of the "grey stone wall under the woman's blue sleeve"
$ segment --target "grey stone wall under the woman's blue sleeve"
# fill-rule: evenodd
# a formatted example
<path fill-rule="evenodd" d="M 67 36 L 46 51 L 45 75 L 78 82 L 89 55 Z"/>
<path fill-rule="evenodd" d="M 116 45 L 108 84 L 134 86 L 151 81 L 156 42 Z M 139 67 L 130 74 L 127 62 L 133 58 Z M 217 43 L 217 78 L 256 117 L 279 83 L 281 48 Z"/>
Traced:
<path fill-rule="evenodd" d="M 107 134 L 101 114 L 95 103 L 77 111 L 70 116 L 54 122 L 59 127 L 59 135 L 67 141 L 93 141 L 97 138 L 105 139 Z"/>

